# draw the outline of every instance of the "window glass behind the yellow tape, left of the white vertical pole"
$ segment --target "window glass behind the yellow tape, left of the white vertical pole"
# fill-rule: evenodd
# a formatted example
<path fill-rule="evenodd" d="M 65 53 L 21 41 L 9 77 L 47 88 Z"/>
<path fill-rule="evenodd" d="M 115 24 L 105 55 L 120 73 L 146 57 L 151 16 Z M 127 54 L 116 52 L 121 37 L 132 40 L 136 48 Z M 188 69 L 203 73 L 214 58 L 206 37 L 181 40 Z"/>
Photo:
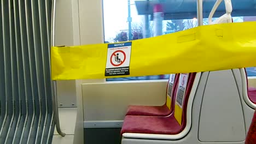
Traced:
<path fill-rule="evenodd" d="M 143 39 L 147 37 L 154 37 L 154 18 L 153 14 L 141 15 L 139 11 L 147 8 L 147 4 L 152 5 L 152 1 L 145 1 L 145 7 L 139 7 L 135 0 L 103 0 L 103 16 L 104 16 L 104 41 L 105 43 L 115 43 L 128 40 Z M 161 2 L 161 1 L 160 1 Z M 171 2 L 171 1 L 170 1 Z M 170 4 L 168 1 L 162 3 Z M 172 6 L 179 6 L 181 2 L 172 2 Z M 196 4 L 196 2 L 194 2 Z M 143 6 L 143 4 L 142 4 Z M 195 5 L 196 6 L 196 5 Z M 138 8 L 138 9 L 137 9 Z M 153 6 L 149 6 L 149 9 Z M 196 7 L 190 8 L 195 9 Z M 166 13 L 164 13 L 166 14 Z M 168 34 L 184 29 L 189 29 L 197 26 L 196 17 L 190 19 L 169 19 L 162 20 L 161 34 Z M 167 18 L 166 18 L 167 17 Z M 147 21 L 148 20 L 148 21 Z M 148 25 L 146 26 L 146 23 Z M 146 28 L 147 27 L 147 28 Z M 147 31 L 145 30 L 147 29 Z M 156 36 L 156 35 L 155 35 Z M 127 80 L 160 80 L 168 79 L 169 75 L 153 75 L 153 76 L 137 76 L 137 77 L 121 77 L 107 79 L 107 81 L 127 81 Z"/>

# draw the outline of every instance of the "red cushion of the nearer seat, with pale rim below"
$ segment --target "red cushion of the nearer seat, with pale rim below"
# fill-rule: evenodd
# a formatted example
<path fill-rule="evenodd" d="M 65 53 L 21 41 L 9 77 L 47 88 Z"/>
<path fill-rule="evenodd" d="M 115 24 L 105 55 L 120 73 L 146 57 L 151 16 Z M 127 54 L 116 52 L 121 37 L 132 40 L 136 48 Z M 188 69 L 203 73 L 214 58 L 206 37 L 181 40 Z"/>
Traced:
<path fill-rule="evenodd" d="M 123 133 L 141 134 L 178 134 L 182 126 L 173 115 L 169 117 L 125 116 L 121 129 Z"/>

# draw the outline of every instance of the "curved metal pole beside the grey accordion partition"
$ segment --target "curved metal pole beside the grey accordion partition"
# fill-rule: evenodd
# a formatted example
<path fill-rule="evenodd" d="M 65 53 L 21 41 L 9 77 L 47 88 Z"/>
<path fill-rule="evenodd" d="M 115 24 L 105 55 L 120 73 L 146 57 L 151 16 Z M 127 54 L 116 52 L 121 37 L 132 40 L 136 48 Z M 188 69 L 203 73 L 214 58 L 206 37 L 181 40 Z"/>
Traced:
<path fill-rule="evenodd" d="M 55 45 L 55 8 L 56 8 L 56 0 L 53 0 L 53 10 L 52 10 L 52 20 L 51 20 L 51 46 Z M 51 49 L 51 47 L 50 47 Z M 59 109 L 57 104 L 57 83 L 56 81 L 53 81 L 53 86 L 51 87 L 53 91 L 51 91 L 51 94 L 53 97 L 53 109 L 54 109 L 54 119 L 56 124 L 56 130 L 57 132 L 64 137 L 66 134 L 61 131 L 60 128 L 60 118 L 59 118 Z"/>

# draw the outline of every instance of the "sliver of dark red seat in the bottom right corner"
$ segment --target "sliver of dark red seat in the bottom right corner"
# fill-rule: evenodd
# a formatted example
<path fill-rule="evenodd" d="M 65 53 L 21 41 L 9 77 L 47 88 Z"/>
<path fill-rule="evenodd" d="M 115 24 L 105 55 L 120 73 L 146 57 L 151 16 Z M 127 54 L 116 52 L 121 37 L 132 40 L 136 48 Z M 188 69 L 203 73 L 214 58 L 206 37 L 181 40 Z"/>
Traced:
<path fill-rule="evenodd" d="M 256 110 L 252 119 L 251 126 L 247 133 L 245 144 L 255 144 L 256 143 Z"/>

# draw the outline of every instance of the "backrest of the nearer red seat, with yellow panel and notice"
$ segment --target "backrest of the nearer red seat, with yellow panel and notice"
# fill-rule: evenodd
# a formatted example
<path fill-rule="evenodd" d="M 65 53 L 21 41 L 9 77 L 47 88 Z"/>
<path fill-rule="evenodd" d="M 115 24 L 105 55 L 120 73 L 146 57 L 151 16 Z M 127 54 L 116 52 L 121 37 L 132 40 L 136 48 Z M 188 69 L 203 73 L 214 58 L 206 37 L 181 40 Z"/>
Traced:
<path fill-rule="evenodd" d="M 174 92 L 174 117 L 183 128 L 187 122 L 188 99 L 195 80 L 195 75 L 196 73 L 180 74 L 179 82 Z"/>

